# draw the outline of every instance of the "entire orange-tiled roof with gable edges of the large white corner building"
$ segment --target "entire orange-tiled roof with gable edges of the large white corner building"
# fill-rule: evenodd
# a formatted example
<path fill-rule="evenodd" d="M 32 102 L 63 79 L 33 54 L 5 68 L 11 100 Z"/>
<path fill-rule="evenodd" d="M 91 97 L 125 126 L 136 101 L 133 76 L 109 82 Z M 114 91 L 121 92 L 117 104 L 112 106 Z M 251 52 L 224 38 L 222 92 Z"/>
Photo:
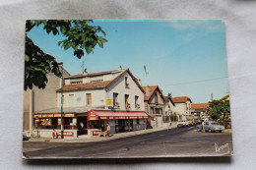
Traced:
<path fill-rule="evenodd" d="M 94 75 L 95 76 L 96 75 L 100 75 L 100 74 L 102 75 L 102 73 L 106 74 L 107 72 L 94 73 Z M 138 85 L 138 87 L 143 91 L 143 93 L 145 93 L 143 87 L 138 83 L 137 79 L 133 76 L 133 74 L 130 72 L 129 69 L 123 70 L 123 73 L 121 73 L 120 75 L 118 75 L 116 78 L 114 78 L 111 81 L 88 83 L 88 84 L 64 85 L 63 86 L 63 91 L 82 90 L 82 89 L 87 89 L 87 88 L 98 88 L 98 87 L 105 88 L 105 87 L 107 87 L 109 85 L 112 85 L 115 81 L 117 81 L 119 78 L 121 78 L 125 73 L 128 73 L 133 78 L 134 82 Z M 61 88 L 58 88 L 56 91 L 60 92 Z"/>

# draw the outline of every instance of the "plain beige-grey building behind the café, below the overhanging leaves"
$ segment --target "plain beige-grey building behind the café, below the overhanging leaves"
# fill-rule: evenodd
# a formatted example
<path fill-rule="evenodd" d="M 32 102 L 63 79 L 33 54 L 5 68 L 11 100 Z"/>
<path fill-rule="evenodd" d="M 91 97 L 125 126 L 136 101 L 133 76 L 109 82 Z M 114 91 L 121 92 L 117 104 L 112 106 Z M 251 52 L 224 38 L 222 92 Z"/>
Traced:
<path fill-rule="evenodd" d="M 61 69 L 60 69 L 61 70 Z M 61 86 L 61 78 L 56 77 L 53 73 L 46 75 L 48 83 L 44 89 L 33 86 L 24 91 L 24 132 L 27 136 L 32 135 L 33 121 L 32 113 L 39 110 L 52 109 L 57 106 L 56 89 Z M 63 69 L 63 76 L 68 77 L 70 74 Z"/>

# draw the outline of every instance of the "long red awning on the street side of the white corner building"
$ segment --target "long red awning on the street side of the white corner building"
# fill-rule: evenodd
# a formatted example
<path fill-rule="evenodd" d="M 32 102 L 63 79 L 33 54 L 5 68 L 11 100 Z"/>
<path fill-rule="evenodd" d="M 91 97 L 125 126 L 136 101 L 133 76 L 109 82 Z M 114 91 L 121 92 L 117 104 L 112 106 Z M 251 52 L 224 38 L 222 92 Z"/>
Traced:
<path fill-rule="evenodd" d="M 91 110 L 88 112 L 88 120 L 109 120 L 109 119 L 145 119 L 149 118 L 146 112 L 142 111 L 109 111 Z"/>

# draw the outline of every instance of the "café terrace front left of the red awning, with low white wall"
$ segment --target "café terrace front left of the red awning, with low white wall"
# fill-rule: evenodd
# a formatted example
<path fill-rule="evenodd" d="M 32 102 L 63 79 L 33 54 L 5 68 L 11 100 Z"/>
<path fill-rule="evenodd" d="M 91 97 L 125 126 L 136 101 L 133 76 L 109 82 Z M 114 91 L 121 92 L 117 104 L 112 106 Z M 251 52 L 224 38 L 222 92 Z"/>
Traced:
<path fill-rule="evenodd" d="M 61 114 L 33 114 L 33 130 L 32 134 L 37 137 L 51 138 L 52 132 L 55 135 L 61 136 Z M 64 138 L 77 138 L 78 137 L 78 124 L 77 114 L 65 113 L 62 114 L 62 121 L 64 125 L 63 136 Z"/>

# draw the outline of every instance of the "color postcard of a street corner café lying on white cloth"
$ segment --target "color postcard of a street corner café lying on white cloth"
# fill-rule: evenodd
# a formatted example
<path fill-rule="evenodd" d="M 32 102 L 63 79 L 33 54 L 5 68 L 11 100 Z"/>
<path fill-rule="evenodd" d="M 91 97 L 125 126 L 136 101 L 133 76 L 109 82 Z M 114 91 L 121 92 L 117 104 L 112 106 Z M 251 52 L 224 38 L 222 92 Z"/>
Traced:
<path fill-rule="evenodd" d="M 231 156 L 222 20 L 28 20 L 23 157 Z"/>

